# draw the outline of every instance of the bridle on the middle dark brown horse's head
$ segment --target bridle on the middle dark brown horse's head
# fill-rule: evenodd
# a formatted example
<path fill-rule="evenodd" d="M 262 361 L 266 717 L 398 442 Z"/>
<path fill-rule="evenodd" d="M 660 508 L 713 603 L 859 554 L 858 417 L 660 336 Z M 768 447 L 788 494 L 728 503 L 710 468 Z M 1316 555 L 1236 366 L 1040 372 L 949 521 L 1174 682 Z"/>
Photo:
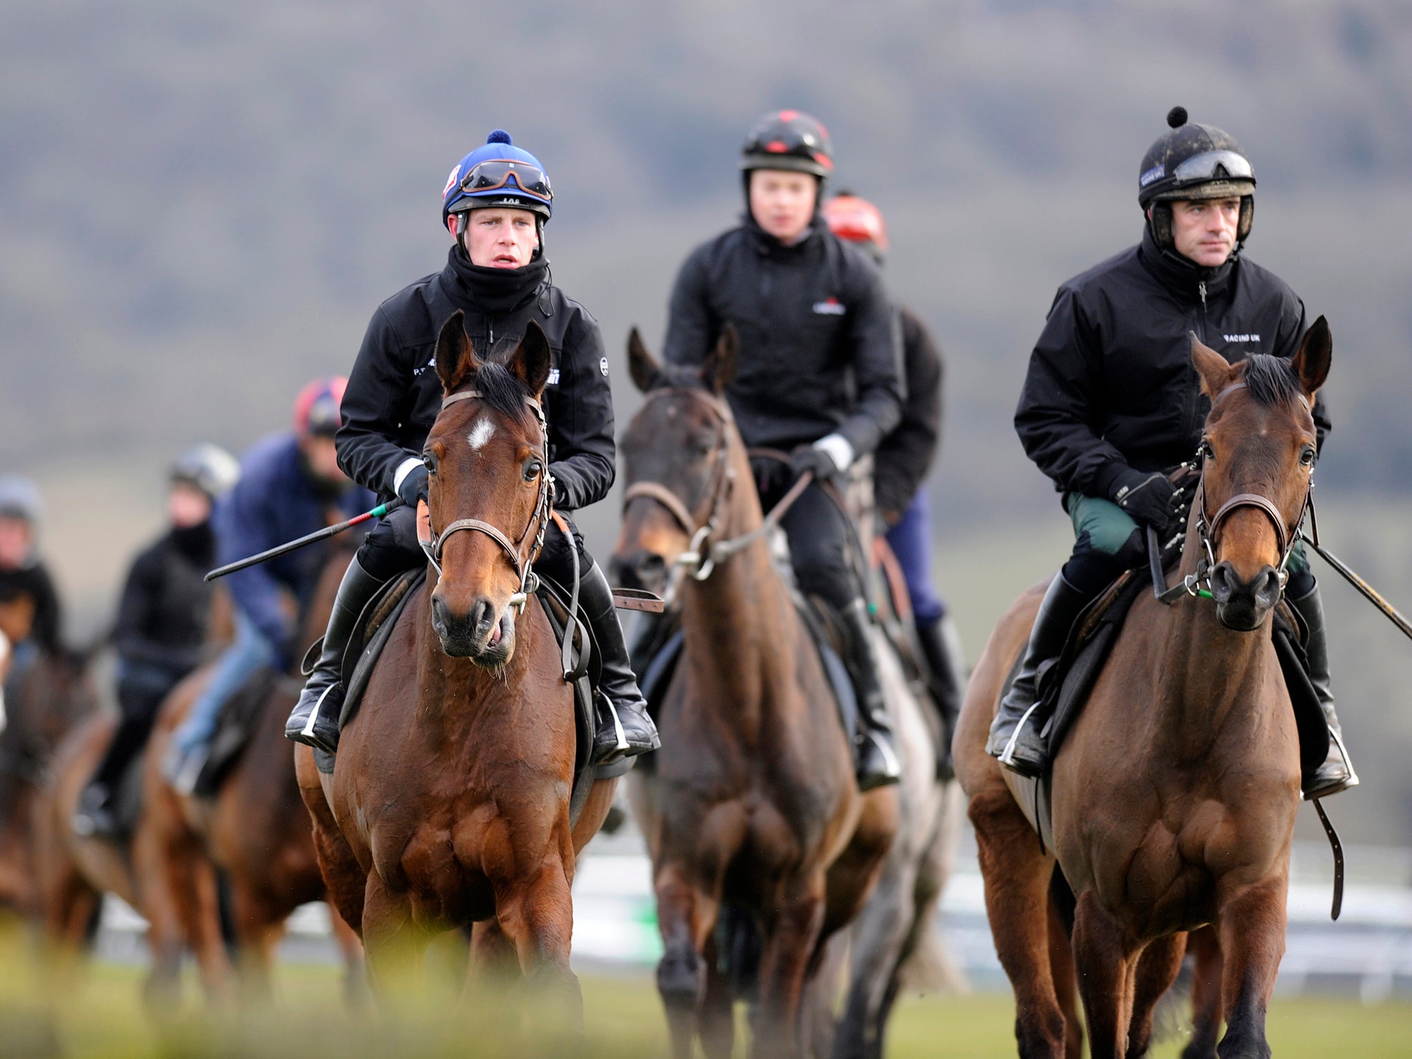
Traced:
<path fill-rule="evenodd" d="M 661 481 L 634 481 L 628 486 L 623 493 L 623 511 L 626 514 L 627 505 L 638 497 L 655 500 L 658 504 L 665 507 L 672 518 L 676 520 L 676 524 L 690 538 L 690 544 L 686 551 L 678 555 L 672 561 L 672 565 L 686 569 L 695 580 L 706 580 L 716 566 L 726 562 L 737 552 L 743 552 L 761 537 L 774 531 L 774 528 L 779 525 L 779 520 L 784 518 L 785 511 L 794 505 L 795 500 L 799 498 L 799 494 L 803 493 L 810 481 L 813 481 L 813 474 L 808 472 L 801 474 L 799 479 L 789 487 L 789 491 L 779 498 L 779 503 L 770 508 L 770 514 L 767 514 L 754 530 L 724 541 L 713 539 L 720 532 L 722 521 L 726 517 L 726 501 L 730 498 L 730 493 L 736 484 L 736 472 L 727 462 L 730 456 L 727 439 L 730 426 L 734 424 L 734 417 L 730 412 L 730 405 L 726 404 L 723 398 L 712 398 L 703 391 L 689 390 L 686 387 L 671 387 L 652 391 L 647 395 L 647 401 L 650 402 L 661 395 L 672 393 L 686 393 L 692 397 L 705 398 L 706 407 L 710 408 L 716 417 L 716 442 L 713 448 L 712 481 L 709 487 L 710 507 L 706 514 L 706 521 L 698 525 L 686 504 L 682 503 L 682 498 Z"/>

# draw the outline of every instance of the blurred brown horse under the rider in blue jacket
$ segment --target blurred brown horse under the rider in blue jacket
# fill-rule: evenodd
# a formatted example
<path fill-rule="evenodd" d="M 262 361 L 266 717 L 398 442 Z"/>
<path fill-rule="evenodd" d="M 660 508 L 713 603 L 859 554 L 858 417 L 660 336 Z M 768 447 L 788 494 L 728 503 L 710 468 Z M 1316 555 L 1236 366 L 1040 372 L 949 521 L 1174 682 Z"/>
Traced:
<path fill-rule="evenodd" d="M 337 538 L 304 609 L 302 647 L 312 644 L 329 621 L 333 597 L 356 551 L 353 535 Z M 294 754 L 284 738 L 284 719 L 299 696 L 301 681 L 280 675 L 256 710 L 250 741 L 222 778 L 215 799 L 178 794 L 158 762 L 176 726 L 185 720 L 199 688 L 185 685 L 162 706 L 147 748 L 145 802 L 140 827 L 155 839 L 157 873 L 143 880 L 148 914 L 179 922 L 193 858 L 210 860 L 230 894 L 239 981 L 246 995 L 271 993 L 275 949 L 284 922 L 302 904 L 326 895 L 313 851 L 309 816 L 294 772 Z M 330 907 L 332 911 L 332 907 Z M 361 980 L 363 946 L 332 911 L 335 938 L 349 966 L 354 990 Z"/>

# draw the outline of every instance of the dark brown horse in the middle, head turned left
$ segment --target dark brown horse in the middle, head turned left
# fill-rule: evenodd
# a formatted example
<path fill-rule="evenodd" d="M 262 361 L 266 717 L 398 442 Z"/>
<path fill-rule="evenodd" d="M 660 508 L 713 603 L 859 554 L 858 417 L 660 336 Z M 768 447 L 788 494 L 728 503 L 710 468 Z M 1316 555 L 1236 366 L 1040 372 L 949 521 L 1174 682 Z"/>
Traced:
<path fill-rule="evenodd" d="M 623 439 L 633 496 L 614 566 L 662 570 L 689 549 L 707 561 L 712 542 L 743 538 L 764 518 L 722 397 L 736 336 L 727 332 L 699 380 L 666 378 L 637 332 L 628 356 L 648 400 Z M 685 648 L 661 710 L 655 805 L 640 812 L 672 1053 L 689 1056 L 695 1032 L 713 1059 L 730 1055 L 731 995 L 716 946 L 730 905 L 762 939 L 755 1053 L 801 1055 L 810 974 L 878 877 L 898 827 L 897 789 L 858 792 L 823 665 L 764 535 L 683 578 L 679 602 Z"/>

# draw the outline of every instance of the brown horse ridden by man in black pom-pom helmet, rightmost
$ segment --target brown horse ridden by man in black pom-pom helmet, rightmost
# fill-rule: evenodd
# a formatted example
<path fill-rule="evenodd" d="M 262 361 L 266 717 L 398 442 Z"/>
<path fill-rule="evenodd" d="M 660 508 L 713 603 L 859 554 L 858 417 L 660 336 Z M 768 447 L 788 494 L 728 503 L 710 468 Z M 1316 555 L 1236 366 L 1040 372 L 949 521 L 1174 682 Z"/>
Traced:
<path fill-rule="evenodd" d="M 1285 949 L 1300 778 L 1269 611 L 1309 497 L 1310 407 L 1330 359 L 1323 318 L 1289 361 L 1228 364 L 1193 340 L 1211 412 L 1180 575 L 1209 579 L 1211 602 L 1138 599 L 1051 775 L 1055 851 L 1076 897 L 1072 967 L 1096 1059 L 1147 1052 L 1183 932 L 1206 923 L 1224 957 L 1220 1056 L 1269 1055 L 1265 1008 Z M 955 740 L 1025 1056 L 1063 1055 L 1066 1038 L 1077 1055 L 1065 1011 L 1073 974 L 1045 912 L 1053 856 L 1017 802 L 1034 781 L 1004 772 L 984 743 L 1042 592 L 991 634 Z"/>

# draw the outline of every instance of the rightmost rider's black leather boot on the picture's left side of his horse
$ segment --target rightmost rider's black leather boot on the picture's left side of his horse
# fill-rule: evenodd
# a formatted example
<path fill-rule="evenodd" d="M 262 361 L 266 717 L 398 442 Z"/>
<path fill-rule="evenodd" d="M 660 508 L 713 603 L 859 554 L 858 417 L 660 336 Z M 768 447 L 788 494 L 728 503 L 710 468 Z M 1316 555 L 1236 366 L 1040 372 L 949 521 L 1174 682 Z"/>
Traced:
<path fill-rule="evenodd" d="M 998 757 L 1012 772 L 1039 777 L 1049 767 L 1045 743 L 1039 736 L 1049 720 L 1042 716 L 1043 705 L 1039 702 L 1039 666 L 1059 657 L 1075 618 L 1090 599 L 1089 593 L 1070 585 L 1062 572 L 1049 582 L 1049 590 L 1035 614 L 1019 672 L 1000 702 L 1000 712 L 991 722 L 990 738 L 986 741 L 986 753 Z"/>

